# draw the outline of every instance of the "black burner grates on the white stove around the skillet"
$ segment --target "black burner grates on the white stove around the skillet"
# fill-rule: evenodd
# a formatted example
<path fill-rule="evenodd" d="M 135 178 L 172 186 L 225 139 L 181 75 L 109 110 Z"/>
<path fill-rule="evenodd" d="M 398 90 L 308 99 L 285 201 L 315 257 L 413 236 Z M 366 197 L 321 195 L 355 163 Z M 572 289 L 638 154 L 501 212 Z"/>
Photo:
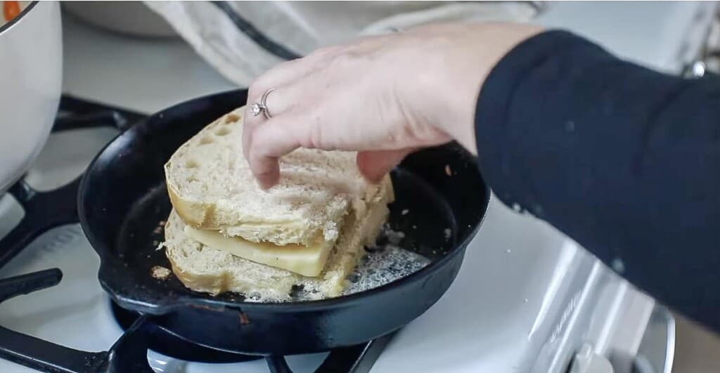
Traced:
<path fill-rule="evenodd" d="M 102 126 L 122 131 L 143 118 L 145 115 L 133 111 L 63 96 L 53 132 Z M 19 224 L 0 239 L 0 267 L 40 234 L 56 226 L 78 222 L 76 197 L 79 184 L 80 177 L 58 189 L 40 192 L 20 180 L 9 189 L 25 214 Z M 58 285 L 62 277 L 62 272 L 53 268 L 0 280 L 0 303 Z M 270 372 L 292 372 L 283 356 L 246 356 L 199 346 L 156 325 L 150 315 L 132 313 L 114 304 L 112 310 L 125 333 L 108 351 L 79 351 L 0 326 L 0 358 L 43 372 L 143 373 L 153 372 L 147 357 L 148 349 L 152 349 L 194 362 L 244 362 L 264 357 Z M 384 336 L 366 344 L 334 349 L 315 373 L 369 372 L 391 338 L 392 335 Z"/>

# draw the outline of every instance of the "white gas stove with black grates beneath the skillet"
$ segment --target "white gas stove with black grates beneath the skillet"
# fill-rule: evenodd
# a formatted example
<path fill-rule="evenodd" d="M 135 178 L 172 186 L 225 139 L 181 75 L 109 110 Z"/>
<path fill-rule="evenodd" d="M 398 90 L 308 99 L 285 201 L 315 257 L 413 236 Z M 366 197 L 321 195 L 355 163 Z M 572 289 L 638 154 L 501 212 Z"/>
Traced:
<path fill-rule="evenodd" d="M 625 57 L 677 71 L 683 30 L 700 8 L 695 3 L 554 3 L 538 22 L 570 28 Z M 636 24 L 636 32 L 628 32 L 608 28 L 605 16 L 617 24 L 651 16 L 657 22 Z M 650 34 L 664 42 L 647 43 L 644 35 Z M 73 223 L 76 178 L 120 129 L 145 114 L 234 87 L 180 40 L 120 37 L 68 17 L 63 36 L 64 90 L 100 103 L 64 98 L 68 113 L 58 116 L 58 131 L 23 183 L 12 189 L 18 198 L 0 198 L 0 237 L 7 239 L 16 226 L 25 232 L 15 233 L 22 241 L 17 246 L 0 241 L 0 372 L 35 371 L 12 361 L 53 372 L 134 372 L 138 369 L 122 364 L 145 362 L 155 372 L 284 372 L 289 367 L 293 372 L 582 373 L 608 364 L 615 372 L 669 372 L 674 329 L 665 308 L 551 226 L 496 200 L 446 295 L 395 336 L 361 346 L 248 359 L 176 339 L 148 317 L 117 308 L 97 280 L 96 253 Z M 23 295 L 10 298 L 17 294 Z M 62 367 L 71 360 L 83 364 Z"/>

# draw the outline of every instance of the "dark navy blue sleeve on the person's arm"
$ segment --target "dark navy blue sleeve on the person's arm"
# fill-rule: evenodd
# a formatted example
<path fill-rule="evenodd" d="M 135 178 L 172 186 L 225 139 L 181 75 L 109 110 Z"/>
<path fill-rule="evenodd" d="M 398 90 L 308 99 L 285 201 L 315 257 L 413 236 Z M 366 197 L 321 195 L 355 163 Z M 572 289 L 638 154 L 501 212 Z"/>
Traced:
<path fill-rule="evenodd" d="M 684 79 L 550 31 L 495 66 L 478 160 L 503 203 L 720 331 L 720 78 Z"/>

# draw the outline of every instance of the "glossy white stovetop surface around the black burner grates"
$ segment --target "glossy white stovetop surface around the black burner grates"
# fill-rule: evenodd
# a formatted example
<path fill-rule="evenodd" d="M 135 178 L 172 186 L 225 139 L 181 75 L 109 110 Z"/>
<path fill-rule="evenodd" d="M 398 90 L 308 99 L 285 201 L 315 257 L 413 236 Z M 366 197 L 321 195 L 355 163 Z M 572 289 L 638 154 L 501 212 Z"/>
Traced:
<path fill-rule="evenodd" d="M 675 2 L 553 3 L 539 22 L 585 34 L 624 57 L 670 68 L 697 8 L 696 3 Z M 179 40 L 132 39 L 67 17 L 64 21 L 66 93 L 151 113 L 235 88 Z M 31 183 L 68 181 L 111 136 L 107 130 L 53 136 L 30 173 Z M 58 152 L 65 153 L 58 157 Z M 78 162 L 66 162 L 68 157 Z M 17 216 L 17 206 L 8 200 L 0 200 L 0 216 L 8 210 Z M 0 235 L 13 223 L 0 219 Z M 493 201 L 454 285 L 395 337 L 373 372 L 528 371 L 544 343 L 541 332 L 552 327 L 543 323 L 546 305 L 557 291 L 552 282 L 562 280 L 568 263 L 587 255 L 546 224 Z M 65 272 L 63 282 L 53 290 L 6 302 L 0 324 L 78 349 L 107 349 L 120 329 L 108 323 L 107 301 L 96 282 L 98 259 L 78 226 L 45 234 L 0 270 L 0 277 L 53 266 Z M 289 361 L 305 370 L 320 360 L 297 356 Z M 239 370 L 228 364 L 213 367 L 266 372 L 263 362 L 243 363 Z M 191 370 L 208 368 L 194 364 Z M 0 361 L 2 372 L 23 369 Z"/>

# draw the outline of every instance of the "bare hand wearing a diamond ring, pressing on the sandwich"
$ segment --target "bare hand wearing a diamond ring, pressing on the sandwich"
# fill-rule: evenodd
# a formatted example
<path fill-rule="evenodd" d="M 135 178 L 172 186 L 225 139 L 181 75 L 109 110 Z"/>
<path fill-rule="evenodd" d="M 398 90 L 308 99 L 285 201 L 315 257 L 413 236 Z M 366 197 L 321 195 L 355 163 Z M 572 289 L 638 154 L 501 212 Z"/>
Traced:
<path fill-rule="evenodd" d="M 527 24 L 439 24 L 369 37 L 272 68 L 253 82 L 243 151 L 263 188 L 279 180 L 278 158 L 298 147 L 358 151 L 369 180 L 415 149 L 456 139 L 477 154 L 474 109 L 483 81 Z"/>

